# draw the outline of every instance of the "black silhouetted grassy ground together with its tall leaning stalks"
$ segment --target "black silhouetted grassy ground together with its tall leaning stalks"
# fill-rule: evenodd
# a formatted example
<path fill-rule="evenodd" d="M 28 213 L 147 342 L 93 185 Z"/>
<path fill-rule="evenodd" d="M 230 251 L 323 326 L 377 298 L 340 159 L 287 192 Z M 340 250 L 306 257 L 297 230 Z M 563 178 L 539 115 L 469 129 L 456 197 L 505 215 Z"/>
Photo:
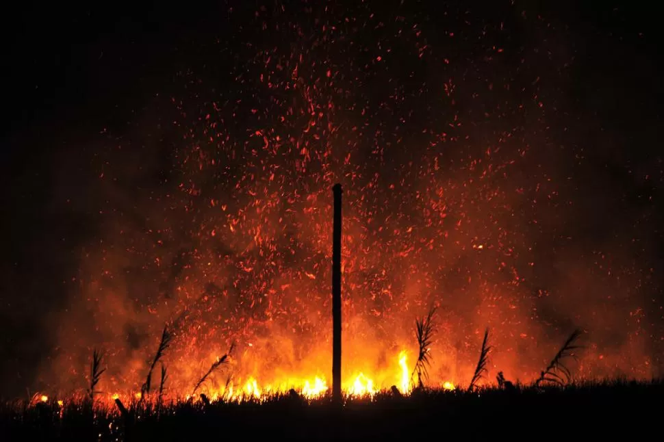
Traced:
<path fill-rule="evenodd" d="M 544 430 L 541 416 L 564 410 L 565 415 L 584 416 L 591 437 L 612 436 L 615 427 L 628 426 L 631 437 L 648 431 L 648 423 L 659 417 L 656 407 L 664 393 L 664 382 L 612 380 L 576 382 L 565 361 L 576 359 L 576 344 L 581 335 L 575 330 L 554 355 L 541 376 L 531 385 L 516 385 L 496 376 L 497 387 L 481 379 L 487 375 L 489 329 L 485 330 L 479 359 L 468 389 L 424 389 L 429 350 L 433 343 L 435 309 L 416 320 L 418 360 L 411 374 L 418 377 L 413 394 L 396 387 L 365 398 L 348 397 L 343 408 L 333 406 L 331 392 L 314 400 L 291 390 L 241 402 L 210 400 L 196 391 L 207 379 L 226 365 L 233 346 L 214 361 L 196 382 L 187 400 L 164 402 L 166 366 L 161 361 L 171 335 L 164 328 L 162 339 L 151 360 L 140 395 L 127 404 L 94 401 L 103 356 L 94 350 L 90 363 L 90 387 L 85 395 L 68 400 L 34 396 L 25 402 L 0 402 L 0 434 L 3 441 L 143 441 L 220 440 L 235 437 L 251 439 L 299 440 L 399 440 L 424 439 L 433 434 L 465 439 L 522 436 L 533 438 Z M 148 395 L 151 377 L 161 363 L 159 394 Z M 230 380 L 230 375 L 227 384 Z M 415 394 L 417 393 L 417 394 Z M 92 406 L 90 406 L 91 403 Z M 637 420 L 638 419 L 638 420 Z M 596 421 L 611 421 L 612 426 L 593 426 Z M 633 422 L 641 424 L 635 428 Z M 481 423 L 481 424 L 478 424 Z M 646 424 L 646 425 L 643 425 Z M 541 434 L 539 434 L 541 435 Z"/>

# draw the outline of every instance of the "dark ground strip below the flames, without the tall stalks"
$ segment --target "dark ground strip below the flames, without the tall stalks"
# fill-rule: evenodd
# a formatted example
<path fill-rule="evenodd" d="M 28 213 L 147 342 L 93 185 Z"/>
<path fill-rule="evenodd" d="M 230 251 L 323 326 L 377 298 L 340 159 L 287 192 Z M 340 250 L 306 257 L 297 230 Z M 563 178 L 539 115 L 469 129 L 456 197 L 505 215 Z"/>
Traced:
<path fill-rule="evenodd" d="M 157 408 L 56 401 L 5 402 L 0 413 L 4 441 L 215 441 L 232 439 L 416 440 L 484 439 L 506 435 L 568 439 L 655 431 L 664 382 L 613 380 L 565 387 L 515 386 L 468 391 L 416 390 L 400 396 L 383 391 L 335 408 L 329 398 L 298 395 L 261 403 L 177 402 Z M 626 432 L 626 433 L 624 433 Z M 628 433 L 627 433 L 628 432 Z"/>

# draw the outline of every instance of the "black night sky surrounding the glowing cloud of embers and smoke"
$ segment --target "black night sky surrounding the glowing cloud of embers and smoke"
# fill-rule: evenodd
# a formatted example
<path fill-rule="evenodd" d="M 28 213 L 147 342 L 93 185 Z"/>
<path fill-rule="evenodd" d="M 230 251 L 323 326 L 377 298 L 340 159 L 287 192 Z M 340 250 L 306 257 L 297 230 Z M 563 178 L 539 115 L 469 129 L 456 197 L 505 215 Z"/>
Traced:
<path fill-rule="evenodd" d="M 32 367 L 49 354 L 50 332 L 40 316 L 66 309 L 78 248 L 94 236 L 99 222 L 94 209 L 88 213 L 68 209 L 66 192 L 62 188 L 56 192 L 55 181 L 62 174 L 85 176 L 86 159 L 94 157 L 91 146 L 100 132 L 129 131 L 127 122 L 146 101 L 174 87 L 176 73 L 188 66 L 230 63 L 210 57 L 205 48 L 214 39 L 229 38 L 232 29 L 224 29 L 224 23 L 230 8 L 233 14 L 251 17 L 261 5 L 260 1 L 139 3 L 92 2 L 84 7 L 26 3 L 22 11 L 4 14 L 0 383 L 12 385 L 7 389 L 12 393 L 15 385 L 31 382 Z M 384 8 L 389 16 L 399 2 L 374 3 L 376 10 Z M 435 3 L 405 1 L 407 8 L 432 14 L 431 29 L 437 19 L 450 20 L 433 15 L 439 10 Z M 446 10 L 460 10 L 465 2 L 457 3 L 449 3 Z M 659 255 L 650 258 L 661 263 L 662 232 L 653 227 L 664 220 L 661 6 L 613 0 L 486 3 L 470 2 L 468 8 L 475 17 L 490 16 L 493 8 L 523 10 L 535 30 L 546 29 L 547 23 L 567 29 L 567 49 L 576 56 L 565 100 L 574 103 L 578 115 L 589 116 L 576 120 L 574 129 L 574 142 L 587 144 L 584 155 L 593 165 L 584 185 L 600 195 L 609 192 L 606 183 L 613 183 L 613 191 L 624 192 L 625 207 L 634 207 L 634 213 L 648 208 L 648 231 L 643 237 L 659 244 Z M 544 17 L 541 23 L 534 18 L 538 14 Z M 309 19 L 304 13 L 302 17 Z M 509 44 L 513 48 L 528 44 L 519 39 L 532 35 L 524 32 Z M 242 46 L 242 42 L 233 44 Z M 547 50 L 546 42 L 542 47 Z M 570 122 L 564 115 L 560 118 Z M 649 178 L 643 179 L 646 175 Z M 79 189 L 67 192 L 85 193 L 88 184 L 80 181 L 74 186 Z M 621 219 L 629 222 L 628 218 L 629 212 Z M 578 222 L 587 235 L 607 234 L 593 222 Z"/>

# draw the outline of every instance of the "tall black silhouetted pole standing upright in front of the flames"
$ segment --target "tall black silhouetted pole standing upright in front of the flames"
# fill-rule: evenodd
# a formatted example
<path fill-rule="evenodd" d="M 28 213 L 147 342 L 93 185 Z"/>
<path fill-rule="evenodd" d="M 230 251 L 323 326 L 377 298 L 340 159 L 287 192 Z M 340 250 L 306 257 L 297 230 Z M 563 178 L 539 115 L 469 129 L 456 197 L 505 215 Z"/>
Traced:
<path fill-rule="evenodd" d="M 341 404 L 341 184 L 335 184 L 332 191 L 332 398 Z"/>

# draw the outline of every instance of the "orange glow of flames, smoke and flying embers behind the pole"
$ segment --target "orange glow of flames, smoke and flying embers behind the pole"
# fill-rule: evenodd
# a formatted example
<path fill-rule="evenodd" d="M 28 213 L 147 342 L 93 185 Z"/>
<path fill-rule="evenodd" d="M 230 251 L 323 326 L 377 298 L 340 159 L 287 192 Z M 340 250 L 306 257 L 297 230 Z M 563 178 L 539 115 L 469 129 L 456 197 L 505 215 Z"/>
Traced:
<path fill-rule="evenodd" d="M 431 385 L 468 382 L 487 326 L 489 379 L 532 380 L 575 327 L 579 376 L 651 376 L 659 287 L 636 227 L 584 233 L 615 202 L 587 204 L 570 36 L 536 24 L 528 38 L 537 20 L 510 11 L 231 8 L 129 129 L 93 142 L 103 221 L 70 306 L 48 318 L 58 348 L 40 379 L 84 388 L 96 347 L 99 389 L 138 391 L 168 323 L 174 395 L 231 342 L 205 388 L 331 382 L 336 182 L 344 382 L 397 384 L 432 306 Z"/>

